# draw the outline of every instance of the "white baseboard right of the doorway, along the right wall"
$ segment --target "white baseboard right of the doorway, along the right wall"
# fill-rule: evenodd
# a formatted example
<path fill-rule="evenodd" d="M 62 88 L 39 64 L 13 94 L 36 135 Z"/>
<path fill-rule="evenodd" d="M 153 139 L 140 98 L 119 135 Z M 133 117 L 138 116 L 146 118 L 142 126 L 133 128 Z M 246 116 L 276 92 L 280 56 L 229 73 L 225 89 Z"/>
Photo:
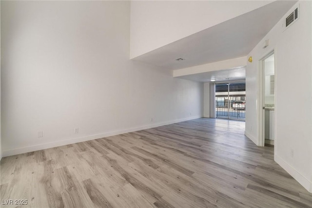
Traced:
<path fill-rule="evenodd" d="M 312 181 L 309 181 L 303 175 L 301 175 L 295 168 L 285 162 L 281 157 L 274 154 L 274 161 L 283 167 L 286 172 L 288 172 L 301 186 L 307 189 L 310 193 L 312 193 Z"/>

